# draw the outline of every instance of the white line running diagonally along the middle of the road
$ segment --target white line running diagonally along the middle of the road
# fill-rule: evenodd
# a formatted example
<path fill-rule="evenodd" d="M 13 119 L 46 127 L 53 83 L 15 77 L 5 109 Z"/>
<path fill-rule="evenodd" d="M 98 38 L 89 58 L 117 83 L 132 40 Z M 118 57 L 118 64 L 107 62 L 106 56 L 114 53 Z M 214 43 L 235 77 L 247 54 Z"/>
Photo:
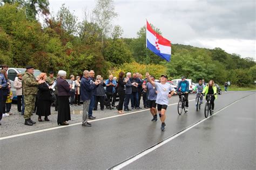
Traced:
<path fill-rule="evenodd" d="M 250 95 L 251 95 L 251 94 L 250 94 Z M 248 96 L 250 96 L 250 95 L 248 95 Z M 248 96 L 245 96 L 245 97 L 248 97 Z M 132 157 L 127 158 L 127 159 L 124 160 L 123 162 L 120 162 L 120 163 L 117 164 L 116 166 L 113 166 L 113 167 L 108 168 L 108 169 L 114 169 L 114 170 L 116 170 L 116 169 L 124 168 L 125 166 L 127 166 L 127 165 L 131 164 L 132 162 L 134 162 L 134 161 L 136 161 L 136 160 L 142 158 L 144 155 L 146 155 L 146 154 L 148 154 L 148 153 L 150 153 L 150 152 L 152 152 L 152 151 L 155 151 L 155 150 L 156 150 L 157 148 L 159 148 L 160 146 L 163 146 L 163 145 L 166 144 L 167 142 L 170 142 L 171 140 L 173 140 L 173 139 L 179 137 L 179 135 L 181 135 L 181 134 L 187 132 L 188 130 L 191 130 L 191 128 L 193 128 L 193 127 L 199 125 L 200 123 L 203 123 L 205 120 L 211 118 L 213 115 L 218 114 L 219 112 L 225 110 L 227 107 L 232 106 L 233 104 L 235 104 L 235 103 L 237 103 L 238 101 L 244 99 L 245 97 L 240 98 L 240 99 L 234 101 L 233 103 L 231 103 L 231 104 L 229 104 L 229 105 L 227 105 L 227 106 L 221 108 L 221 110 L 215 112 L 215 113 L 212 114 L 210 117 L 207 117 L 207 118 L 205 118 L 205 119 L 202 119 L 202 120 L 198 121 L 197 123 L 195 123 L 195 124 L 193 124 L 193 125 L 190 125 L 190 126 L 184 128 L 184 130 L 180 131 L 180 132 L 177 133 L 177 134 L 172 135 L 172 136 L 169 137 L 169 138 L 164 139 L 164 140 L 163 140 L 162 142 L 160 142 L 159 144 L 153 145 L 153 146 L 149 147 L 148 149 L 145 149 L 144 151 L 142 151 L 142 152 L 140 152 L 140 153 L 138 153 L 138 154 L 136 154 L 136 155 L 133 155 Z"/>

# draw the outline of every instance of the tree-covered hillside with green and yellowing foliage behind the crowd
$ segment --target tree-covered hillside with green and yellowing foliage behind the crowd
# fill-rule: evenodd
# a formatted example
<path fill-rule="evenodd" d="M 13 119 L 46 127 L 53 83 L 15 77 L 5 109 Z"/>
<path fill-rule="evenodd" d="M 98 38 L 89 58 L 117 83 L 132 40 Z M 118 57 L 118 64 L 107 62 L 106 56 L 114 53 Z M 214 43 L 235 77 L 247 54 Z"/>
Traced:
<path fill-rule="evenodd" d="M 72 17 L 67 9 L 62 12 Z M 83 70 L 95 70 L 104 78 L 122 70 L 143 75 L 149 71 L 156 77 L 184 75 L 193 81 L 214 79 L 219 84 L 231 81 L 238 86 L 253 85 L 256 80 L 252 58 L 241 58 L 220 48 L 172 44 L 171 62 L 167 63 L 146 49 L 145 27 L 138 31 L 136 38 L 121 38 L 122 28 L 113 30 L 112 36 L 104 36 L 97 23 L 77 23 L 74 31 L 66 26 L 72 23 L 69 22 L 48 17 L 42 26 L 29 18 L 25 8 L 19 8 L 18 4 L 1 6 L 0 64 L 11 67 L 31 64 L 43 72 L 65 70 L 80 76 Z"/>

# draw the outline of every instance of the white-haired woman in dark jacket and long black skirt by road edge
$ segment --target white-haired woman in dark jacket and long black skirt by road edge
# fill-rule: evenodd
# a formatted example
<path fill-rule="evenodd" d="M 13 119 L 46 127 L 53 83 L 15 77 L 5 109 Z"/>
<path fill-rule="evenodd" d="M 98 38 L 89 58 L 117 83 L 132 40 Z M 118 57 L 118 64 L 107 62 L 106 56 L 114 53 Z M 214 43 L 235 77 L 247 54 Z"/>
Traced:
<path fill-rule="evenodd" d="M 66 81 L 66 72 L 60 70 L 58 72 L 58 80 L 57 80 L 57 88 L 58 88 L 58 125 L 69 125 L 66 121 L 71 120 L 70 117 L 70 106 L 69 106 L 69 96 L 71 85 L 69 85 L 68 81 Z"/>

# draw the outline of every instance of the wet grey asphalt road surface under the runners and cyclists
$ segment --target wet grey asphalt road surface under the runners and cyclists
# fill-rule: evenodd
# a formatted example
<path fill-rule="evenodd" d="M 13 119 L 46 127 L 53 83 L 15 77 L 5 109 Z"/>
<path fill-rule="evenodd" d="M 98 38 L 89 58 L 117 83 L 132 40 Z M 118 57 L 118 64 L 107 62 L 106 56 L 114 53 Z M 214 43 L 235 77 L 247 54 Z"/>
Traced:
<path fill-rule="evenodd" d="M 124 169 L 255 169 L 255 97 L 218 96 L 215 112 L 242 99 Z M 107 169 L 204 119 L 204 112 L 194 101 L 180 116 L 177 105 L 169 106 L 165 132 L 151 118 L 143 111 L 0 140 L 1 169 Z"/>

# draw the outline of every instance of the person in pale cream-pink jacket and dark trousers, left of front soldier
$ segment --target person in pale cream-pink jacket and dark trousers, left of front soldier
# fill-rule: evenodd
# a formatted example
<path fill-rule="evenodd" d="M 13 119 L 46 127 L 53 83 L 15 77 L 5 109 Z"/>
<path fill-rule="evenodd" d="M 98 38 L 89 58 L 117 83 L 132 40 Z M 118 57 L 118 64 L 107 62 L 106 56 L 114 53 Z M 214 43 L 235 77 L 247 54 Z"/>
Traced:
<path fill-rule="evenodd" d="M 18 73 L 14 80 L 14 88 L 17 95 L 17 108 L 18 112 L 22 112 L 22 74 Z"/>

